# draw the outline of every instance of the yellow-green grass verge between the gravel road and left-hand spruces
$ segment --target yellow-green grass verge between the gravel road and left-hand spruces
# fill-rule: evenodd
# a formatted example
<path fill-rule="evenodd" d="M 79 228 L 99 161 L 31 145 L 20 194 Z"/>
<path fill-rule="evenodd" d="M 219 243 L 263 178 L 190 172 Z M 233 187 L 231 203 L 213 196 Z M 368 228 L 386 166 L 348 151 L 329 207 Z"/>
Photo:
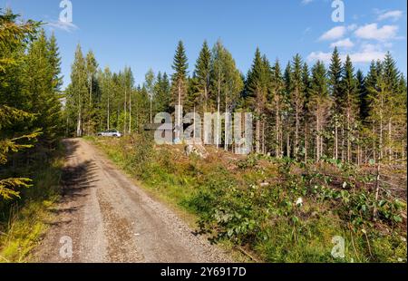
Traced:
<path fill-rule="evenodd" d="M 63 149 L 42 161 L 35 170 L 27 170 L 32 187 L 21 192 L 21 199 L 0 202 L 0 262 L 27 262 L 43 237 L 50 208 L 59 199 L 63 168 Z"/>

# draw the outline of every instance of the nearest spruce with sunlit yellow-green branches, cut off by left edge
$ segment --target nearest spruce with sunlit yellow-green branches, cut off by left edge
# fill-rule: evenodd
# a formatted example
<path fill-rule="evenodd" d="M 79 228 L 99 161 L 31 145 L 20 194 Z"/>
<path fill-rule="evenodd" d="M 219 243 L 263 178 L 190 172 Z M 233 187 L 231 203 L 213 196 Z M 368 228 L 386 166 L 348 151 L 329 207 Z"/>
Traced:
<path fill-rule="evenodd" d="M 7 163 L 10 152 L 18 152 L 32 147 L 31 144 L 22 143 L 22 140 L 31 140 L 38 137 L 38 131 L 22 132 L 16 131 L 18 122 L 31 123 L 35 116 L 33 113 L 16 109 L 14 106 L 22 107 L 23 100 L 17 99 L 18 104 L 10 104 L 8 87 L 16 80 L 17 73 L 11 73 L 11 69 L 22 68 L 21 56 L 15 55 L 24 50 L 26 42 L 36 34 L 38 24 L 32 21 L 17 23 L 17 15 L 11 11 L 2 13 L 0 10 L 0 165 Z M 0 179 L 0 199 L 14 199 L 20 195 L 19 188 L 28 188 L 30 179 L 7 178 Z"/>

